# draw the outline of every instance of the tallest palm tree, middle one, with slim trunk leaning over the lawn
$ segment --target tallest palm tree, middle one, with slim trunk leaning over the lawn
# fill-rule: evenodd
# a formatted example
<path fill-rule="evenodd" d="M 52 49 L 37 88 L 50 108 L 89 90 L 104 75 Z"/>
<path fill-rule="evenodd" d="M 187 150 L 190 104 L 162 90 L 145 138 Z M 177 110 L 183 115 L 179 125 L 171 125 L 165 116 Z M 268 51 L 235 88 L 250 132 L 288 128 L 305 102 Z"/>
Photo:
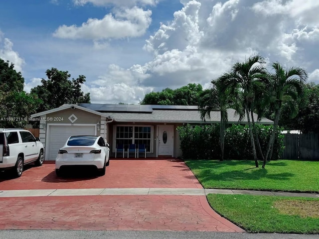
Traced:
<path fill-rule="evenodd" d="M 232 95 L 235 91 L 239 91 L 242 95 L 240 98 L 241 102 L 239 102 L 240 108 L 237 108 L 236 112 L 239 114 L 240 120 L 242 120 L 245 115 L 247 117 L 250 141 L 256 167 L 258 167 L 258 159 L 250 113 L 253 111 L 255 92 L 257 90 L 260 91 L 263 87 L 265 87 L 262 81 L 262 79 L 267 76 L 267 70 L 264 67 L 264 64 L 265 60 L 262 56 L 253 55 L 243 63 L 235 63 L 229 72 L 224 73 L 219 78 L 222 92 L 229 89 L 230 94 Z"/>

